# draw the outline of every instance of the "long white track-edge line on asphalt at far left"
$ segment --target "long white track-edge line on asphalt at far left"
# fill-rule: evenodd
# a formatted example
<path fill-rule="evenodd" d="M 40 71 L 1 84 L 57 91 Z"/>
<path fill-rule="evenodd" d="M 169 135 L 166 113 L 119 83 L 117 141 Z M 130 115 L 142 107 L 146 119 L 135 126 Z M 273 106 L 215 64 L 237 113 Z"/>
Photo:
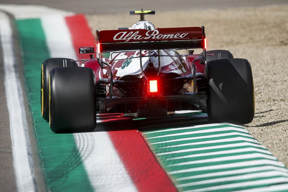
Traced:
<path fill-rule="evenodd" d="M 33 168 L 31 167 L 33 163 L 30 162 L 32 160 L 28 154 L 28 151 L 31 151 L 30 143 L 29 138 L 26 138 L 28 136 L 28 130 L 24 127 L 27 125 L 26 116 L 23 115 L 25 109 L 24 104 L 20 102 L 23 98 L 22 88 L 15 72 L 12 29 L 9 18 L 3 12 L 0 12 L 0 35 L 16 185 L 18 191 L 35 191 L 32 173 Z"/>

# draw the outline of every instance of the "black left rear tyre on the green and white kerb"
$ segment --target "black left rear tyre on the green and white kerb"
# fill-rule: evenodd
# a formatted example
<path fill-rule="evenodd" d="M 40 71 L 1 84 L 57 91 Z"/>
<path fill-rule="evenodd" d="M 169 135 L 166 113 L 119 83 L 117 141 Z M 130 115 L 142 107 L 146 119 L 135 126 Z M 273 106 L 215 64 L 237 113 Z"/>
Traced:
<path fill-rule="evenodd" d="M 88 132 L 96 128 L 94 71 L 61 67 L 50 72 L 49 125 L 52 132 Z"/>

